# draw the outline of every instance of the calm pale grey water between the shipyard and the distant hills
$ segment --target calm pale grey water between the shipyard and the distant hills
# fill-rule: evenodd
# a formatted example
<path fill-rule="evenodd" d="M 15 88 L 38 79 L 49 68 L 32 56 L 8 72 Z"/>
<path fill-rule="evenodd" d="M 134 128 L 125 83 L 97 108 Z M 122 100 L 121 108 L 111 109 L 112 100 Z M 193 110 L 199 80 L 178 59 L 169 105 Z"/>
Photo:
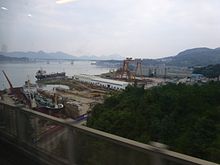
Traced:
<path fill-rule="evenodd" d="M 19 64 L 0 64 L 0 89 L 8 88 L 8 82 L 5 79 L 2 70 L 8 75 L 12 85 L 14 87 L 19 87 L 24 84 L 28 79 L 31 82 L 35 82 L 35 74 L 37 70 L 42 68 L 46 70 L 47 73 L 51 72 L 66 72 L 67 76 L 73 76 L 76 74 L 90 74 L 99 75 L 101 73 L 108 72 L 111 68 L 98 67 L 96 65 L 91 65 L 91 61 L 74 61 L 71 64 L 70 61 L 65 62 L 38 62 L 38 63 L 19 63 Z"/>

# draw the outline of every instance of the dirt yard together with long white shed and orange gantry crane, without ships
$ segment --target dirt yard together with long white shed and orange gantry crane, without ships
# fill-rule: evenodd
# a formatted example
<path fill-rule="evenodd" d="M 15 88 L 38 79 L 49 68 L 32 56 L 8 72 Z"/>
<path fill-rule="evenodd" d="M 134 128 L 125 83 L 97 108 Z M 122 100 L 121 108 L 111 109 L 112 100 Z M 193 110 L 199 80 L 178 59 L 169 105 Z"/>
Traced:
<path fill-rule="evenodd" d="M 111 93 L 124 90 L 128 85 L 143 86 L 145 88 L 164 82 L 160 78 L 146 78 L 142 74 L 141 59 L 126 58 L 117 71 L 94 75 L 74 75 L 65 79 L 45 79 L 38 83 L 62 84 L 69 89 L 56 88 L 56 94 L 62 98 L 66 116 L 77 119 L 88 114 L 94 105 L 102 103 Z M 44 91 L 47 97 L 53 96 L 53 91 Z"/>

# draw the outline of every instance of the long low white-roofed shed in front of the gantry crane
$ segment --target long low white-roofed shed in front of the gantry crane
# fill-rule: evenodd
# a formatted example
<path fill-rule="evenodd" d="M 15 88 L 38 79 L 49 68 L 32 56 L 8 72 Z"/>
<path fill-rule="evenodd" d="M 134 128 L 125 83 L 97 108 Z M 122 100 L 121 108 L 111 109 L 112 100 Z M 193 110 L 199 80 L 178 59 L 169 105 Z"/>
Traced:
<path fill-rule="evenodd" d="M 125 81 L 104 79 L 98 76 L 85 75 L 85 74 L 74 75 L 73 78 L 81 82 L 86 82 L 86 83 L 90 83 L 93 85 L 110 88 L 114 90 L 125 89 L 129 84 L 131 84 Z"/>

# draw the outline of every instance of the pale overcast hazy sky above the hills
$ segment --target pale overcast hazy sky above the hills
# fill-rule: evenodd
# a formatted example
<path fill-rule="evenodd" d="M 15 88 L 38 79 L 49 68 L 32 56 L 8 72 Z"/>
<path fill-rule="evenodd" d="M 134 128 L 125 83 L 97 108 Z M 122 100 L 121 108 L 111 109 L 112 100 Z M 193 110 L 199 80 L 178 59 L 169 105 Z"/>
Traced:
<path fill-rule="evenodd" d="M 8 51 L 158 58 L 220 47 L 220 0 L 0 0 Z"/>

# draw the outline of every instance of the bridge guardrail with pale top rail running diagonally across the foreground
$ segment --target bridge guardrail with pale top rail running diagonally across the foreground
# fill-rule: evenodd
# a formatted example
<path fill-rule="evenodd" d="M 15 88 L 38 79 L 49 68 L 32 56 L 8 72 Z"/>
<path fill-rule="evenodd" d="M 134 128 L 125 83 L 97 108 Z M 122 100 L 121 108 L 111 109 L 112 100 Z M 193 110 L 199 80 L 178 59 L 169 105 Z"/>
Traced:
<path fill-rule="evenodd" d="M 0 134 L 47 164 L 217 165 L 0 101 Z"/>

